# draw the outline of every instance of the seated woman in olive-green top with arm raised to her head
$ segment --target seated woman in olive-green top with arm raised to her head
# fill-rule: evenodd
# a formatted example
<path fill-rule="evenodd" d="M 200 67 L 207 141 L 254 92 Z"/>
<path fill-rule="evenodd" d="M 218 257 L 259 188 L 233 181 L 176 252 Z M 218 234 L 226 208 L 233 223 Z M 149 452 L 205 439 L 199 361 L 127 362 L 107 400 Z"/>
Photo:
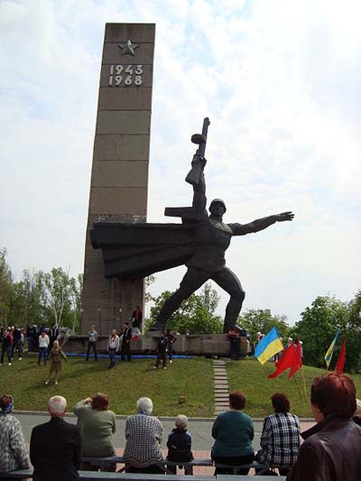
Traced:
<path fill-rule="evenodd" d="M 116 432 L 116 414 L 108 410 L 109 398 L 97 393 L 74 406 L 82 430 L 81 453 L 85 458 L 107 458 L 116 456 L 113 434 Z M 81 469 L 97 470 L 93 463 L 81 463 Z M 116 465 L 108 465 L 106 471 L 116 471 Z"/>

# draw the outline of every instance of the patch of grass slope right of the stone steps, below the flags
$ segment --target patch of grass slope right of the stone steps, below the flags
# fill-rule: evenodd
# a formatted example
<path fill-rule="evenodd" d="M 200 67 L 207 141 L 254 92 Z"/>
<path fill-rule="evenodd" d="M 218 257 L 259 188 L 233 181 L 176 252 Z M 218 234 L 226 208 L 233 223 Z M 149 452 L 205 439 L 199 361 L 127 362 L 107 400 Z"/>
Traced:
<path fill-rule="evenodd" d="M 302 418 L 312 418 L 310 412 L 310 385 L 316 375 L 325 373 L 324 369 L 317 369 L 308 365 L 303 366 L 307 401 L 304 400 L 303 384 L 300 371 L 295 377 L 297 384 L 301 390 L 300 396 L 295 381 L 288 378 L 288 372 L 282 373 L 274 379 L 269 379 L 267 375 L 274 372 L 274 363 L 268 362 L 261 365 L 255 359 L 246 359 L 245 361 L 230 361 L 227 363 L 227 375 L 230 390 L 240 390 L 245 393 L 246 405 L 245 412 L 255 418 L 263 418 L 271 412 L 270 397 L 273 393 L 285 393 L 290 399 L 291 412 Z M 358 397 L 361 393 L 361 376 L 352 376 Z"/>

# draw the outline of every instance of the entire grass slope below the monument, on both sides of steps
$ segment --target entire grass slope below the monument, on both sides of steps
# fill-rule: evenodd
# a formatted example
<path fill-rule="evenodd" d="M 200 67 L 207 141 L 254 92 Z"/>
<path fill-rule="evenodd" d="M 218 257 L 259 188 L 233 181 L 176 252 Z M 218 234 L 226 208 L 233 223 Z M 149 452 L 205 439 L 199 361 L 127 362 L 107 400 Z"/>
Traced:
<path fill-rule="evenodd" d="M 61 394 L 68 400 L 69 410 L 80 399 L 96 392 L 107 393 L 110 409 L 116 414 L 131 414 L 135 402 L 141 396 L 153 399 L 154 415 L 176 416 L 179 413 L 190 417 L 213 417 L 213 365 L 202 357 L 175 359 L 166 371 L 153 369 L 154 359 L 134 359 L 131 363 L 117 361 L 116 369 L 108 370 L 108 360 L 99 359 L 88 363 L 82 357 L 69 357 L 60 373 L 59 385 L 45 385 L 50 365 L 37 365 L 36 355 L 25 355 L 22 361 L 14 360 L 12 366 L 0 366 L 0 394 L 14 395 L 16 410 L 46 411 L 49 398 Z M 255 418 L 263 418 L 271 412 L 270 396 L 286 393 L 291 402 L 291 411 L 300 417 L 312 417 L 310 412 L 310 385 L 322 369 L 304 366 L 307 386 L 307 401 L 300 396 L 293 379 L 287 373 L 268 379 L 274 370 L 273 363 L 260 365 L 255 359 L 227 362 L 230 390 L 245 393 L 245 412 Z M 297 383 L 303 392 L 301 377 Z M 353 376 L 356 389 L 361 393 L 361 376 Z M 186 396 L 184 404 L 180 395 Z M 359 396 L 360 397 L 360 394 Z"/>

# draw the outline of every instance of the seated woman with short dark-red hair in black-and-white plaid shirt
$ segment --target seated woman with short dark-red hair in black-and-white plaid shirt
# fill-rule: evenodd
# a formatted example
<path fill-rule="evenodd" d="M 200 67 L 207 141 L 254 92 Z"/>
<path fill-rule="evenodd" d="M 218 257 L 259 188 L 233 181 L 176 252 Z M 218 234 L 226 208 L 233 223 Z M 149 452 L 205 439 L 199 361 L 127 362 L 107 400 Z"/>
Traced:
<path fill-rule="evenodd" d="M 300 421 L 290 412 L 286 394 L 271 396 L 274 414 L 264 418 L 261 450 L 256 459 L 270 467 L 278 467 L 281 476 L 287 476 L 297 460 L 300 450 Z"/>

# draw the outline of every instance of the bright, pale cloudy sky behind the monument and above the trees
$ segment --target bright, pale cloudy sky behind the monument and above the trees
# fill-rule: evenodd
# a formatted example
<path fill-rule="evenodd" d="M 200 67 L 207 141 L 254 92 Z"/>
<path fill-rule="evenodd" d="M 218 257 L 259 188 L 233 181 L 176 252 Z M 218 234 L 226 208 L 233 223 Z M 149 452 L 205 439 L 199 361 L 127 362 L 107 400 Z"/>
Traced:
<path fill-rule="evenodd" d="M 105 23 L 156 23 L 148 220 L 190 204 L 190 134 L 208 116 L 208 199 L 225 199 L 226 222 L 295 213 L 232 240 L 245 309 L 292 324 L 319 295 L 350 300 L 360 17 L 358 0 L 0 0 L 0 248 L 15 276 L 82 272 Z M 157 274 L 153 293 L 184 271 Z"/>

